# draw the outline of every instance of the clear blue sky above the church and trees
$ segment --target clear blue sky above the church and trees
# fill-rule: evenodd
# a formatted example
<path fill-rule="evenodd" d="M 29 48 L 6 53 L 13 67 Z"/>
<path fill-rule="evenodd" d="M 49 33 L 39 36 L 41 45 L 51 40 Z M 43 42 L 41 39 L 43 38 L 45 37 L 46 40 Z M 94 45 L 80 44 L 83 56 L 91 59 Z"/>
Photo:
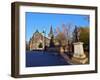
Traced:
<path fill-rule="evenodd" d="M 78 27 L 89 27 L 89 21 L 86 20 L 86 17 L 88 17 L 88 15 L 26 12 L 26 41 L 29 41 L 36 30 L 39 32 L 46 30 L 47 36 L 51 25 L 53 30 L 56 29 L 56 27 L 61 27 L 62 24 L 69 23 L 77 25 Z"/>

